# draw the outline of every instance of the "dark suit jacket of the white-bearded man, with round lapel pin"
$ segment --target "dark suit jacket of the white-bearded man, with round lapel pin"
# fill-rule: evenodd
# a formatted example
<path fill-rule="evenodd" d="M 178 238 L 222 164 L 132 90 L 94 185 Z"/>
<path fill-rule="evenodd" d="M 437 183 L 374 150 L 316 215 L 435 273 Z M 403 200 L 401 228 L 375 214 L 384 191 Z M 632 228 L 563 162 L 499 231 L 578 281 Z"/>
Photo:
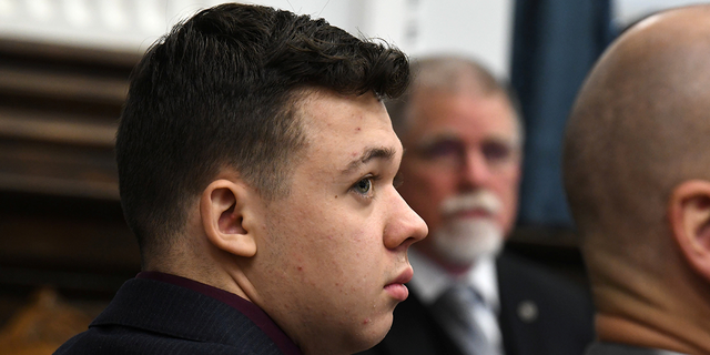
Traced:
<path fill-rule="evenodd" d="M 591 343 L 590 297 L 530 262 L 504 253 L 497 261 L 506 355 L 580 355 Z M 454 341 L 412 293 L 394 312 L 385 339 L 368 355 L 457 355 Z"/>

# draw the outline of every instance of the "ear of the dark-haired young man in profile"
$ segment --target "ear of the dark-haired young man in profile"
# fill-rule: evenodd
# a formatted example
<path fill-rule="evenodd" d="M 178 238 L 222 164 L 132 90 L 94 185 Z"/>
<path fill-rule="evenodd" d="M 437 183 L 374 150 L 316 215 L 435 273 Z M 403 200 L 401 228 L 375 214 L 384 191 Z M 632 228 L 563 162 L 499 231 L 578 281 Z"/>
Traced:
<path fill-rule="evenodd" d="M 207 240 L 227 253 L 252 257 L 256 254 L 256 240 L 252 231 L 254 216 L 251 212 L 250 193 L 242 183 L 215 180 L 203 192 L 200 200 L 202 226 Z"/>

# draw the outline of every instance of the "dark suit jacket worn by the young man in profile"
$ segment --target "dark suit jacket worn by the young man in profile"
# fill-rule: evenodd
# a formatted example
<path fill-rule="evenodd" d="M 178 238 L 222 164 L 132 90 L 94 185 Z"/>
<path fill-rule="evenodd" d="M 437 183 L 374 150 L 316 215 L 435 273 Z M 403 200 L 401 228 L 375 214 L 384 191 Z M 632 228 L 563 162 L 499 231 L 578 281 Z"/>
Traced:
<path fill-rule="evenodd" d="M 54 354 L 282 353 L 236 308 L 189 288 L 133 278 L 87 332 Z"/>

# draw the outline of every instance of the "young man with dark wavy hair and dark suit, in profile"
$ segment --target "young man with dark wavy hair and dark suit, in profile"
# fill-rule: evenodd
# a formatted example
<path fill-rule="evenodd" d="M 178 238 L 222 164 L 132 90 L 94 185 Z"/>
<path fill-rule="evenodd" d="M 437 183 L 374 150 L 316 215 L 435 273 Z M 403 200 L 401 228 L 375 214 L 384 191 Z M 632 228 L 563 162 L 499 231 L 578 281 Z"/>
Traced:
<path fill-rule="evenodd" d="M 426 225 L 381 98 L 406 57 L 324 20 L 222 4 L 154 44 L 116 136 L 143 272 L 58 354 L 349 354 L 407 297 Z"/>

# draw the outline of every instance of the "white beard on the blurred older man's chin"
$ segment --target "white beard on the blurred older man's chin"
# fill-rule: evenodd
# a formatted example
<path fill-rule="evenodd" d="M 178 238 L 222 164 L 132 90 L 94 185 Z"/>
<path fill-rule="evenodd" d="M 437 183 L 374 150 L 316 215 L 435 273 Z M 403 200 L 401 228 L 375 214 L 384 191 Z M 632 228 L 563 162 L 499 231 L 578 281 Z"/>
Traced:
<path fill-rule="evenodd" d="M 486 217 L 454 220 L 433 234 L 437 254 L 454 264 L 470 265 L 483 256 L 495 257 L 503 250 L 503 230 Z"/>

